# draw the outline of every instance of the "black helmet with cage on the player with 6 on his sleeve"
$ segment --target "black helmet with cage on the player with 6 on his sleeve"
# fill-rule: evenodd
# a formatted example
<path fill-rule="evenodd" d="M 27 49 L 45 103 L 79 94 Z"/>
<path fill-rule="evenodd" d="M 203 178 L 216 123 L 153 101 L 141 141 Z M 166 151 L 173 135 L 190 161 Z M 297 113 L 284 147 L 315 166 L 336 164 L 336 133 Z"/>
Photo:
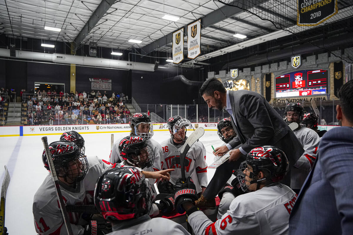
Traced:
<path fill-rule="evenodd" d="M 243 191 L 247 191 L 247 188 L 257 183 L 257 187 L 260 184 L 269 185 L 274 182 L 282 180 L 288 171 L 289 162 L 286 154 L 278 147 L 274 146 L 263 146 L 253 148 L 246 156 L 246 160 L 240 163 L 238 170 L 238 179 Z M 249 180 L 245 179 L 244 171 L 252 172 L 249 174 Z M 265 178 L 258 179 L 257 174 L 262 171 L 265 174 Z M 246 184 L 246 182 L 249 182 Z"/>

